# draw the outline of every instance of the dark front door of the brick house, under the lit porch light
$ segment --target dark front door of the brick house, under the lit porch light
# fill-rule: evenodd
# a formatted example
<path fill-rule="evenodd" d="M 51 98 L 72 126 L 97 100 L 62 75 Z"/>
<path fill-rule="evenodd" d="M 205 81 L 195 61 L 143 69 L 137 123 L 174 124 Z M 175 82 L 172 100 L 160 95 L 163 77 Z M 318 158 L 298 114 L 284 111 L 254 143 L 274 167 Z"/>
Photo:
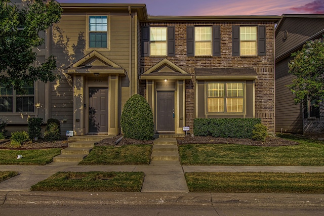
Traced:
<path fill-rule="evenodd" d="M 156 108 L 157 133 L 175 133 L 174 92 L 157 92 Z"/>

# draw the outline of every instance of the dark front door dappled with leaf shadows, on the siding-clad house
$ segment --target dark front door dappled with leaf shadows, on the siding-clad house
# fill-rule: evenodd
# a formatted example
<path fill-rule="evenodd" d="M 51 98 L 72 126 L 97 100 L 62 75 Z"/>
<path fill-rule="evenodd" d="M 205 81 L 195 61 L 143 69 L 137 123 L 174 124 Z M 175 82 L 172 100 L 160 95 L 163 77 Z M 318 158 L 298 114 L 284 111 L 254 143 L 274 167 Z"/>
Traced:
<path fill-rule="evenodd" d="M 108 133 L 108 88 L 89 88 L 89 133 Z"/>

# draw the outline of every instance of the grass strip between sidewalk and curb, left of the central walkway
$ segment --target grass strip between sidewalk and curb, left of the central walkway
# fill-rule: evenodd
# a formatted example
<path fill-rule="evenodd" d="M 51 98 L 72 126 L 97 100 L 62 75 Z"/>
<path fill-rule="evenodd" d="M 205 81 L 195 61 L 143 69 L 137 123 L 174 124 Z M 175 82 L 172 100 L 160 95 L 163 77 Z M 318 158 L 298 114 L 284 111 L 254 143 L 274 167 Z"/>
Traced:
<path fill-rule="evenodd" d="M 144 172 L 57 172 L 31 191 L 140 192 Z"/>

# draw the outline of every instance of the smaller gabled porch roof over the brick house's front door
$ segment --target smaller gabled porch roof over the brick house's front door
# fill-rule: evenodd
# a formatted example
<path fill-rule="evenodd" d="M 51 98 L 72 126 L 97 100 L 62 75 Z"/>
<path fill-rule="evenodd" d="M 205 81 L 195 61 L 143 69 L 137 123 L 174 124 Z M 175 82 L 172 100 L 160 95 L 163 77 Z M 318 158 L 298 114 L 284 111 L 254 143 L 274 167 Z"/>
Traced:
<path fill-rule="evenodd" d="M 163 59 L 140 75 L 140 79 L 191 79 L 191 75 L 168 59 Z"/>

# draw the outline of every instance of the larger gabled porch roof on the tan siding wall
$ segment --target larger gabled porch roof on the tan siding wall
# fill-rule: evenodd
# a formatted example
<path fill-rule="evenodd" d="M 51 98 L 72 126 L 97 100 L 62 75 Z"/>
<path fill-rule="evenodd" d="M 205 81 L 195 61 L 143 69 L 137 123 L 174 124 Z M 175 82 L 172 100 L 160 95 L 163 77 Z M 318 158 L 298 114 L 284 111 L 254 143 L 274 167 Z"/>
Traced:
<path fill-rule="evenodd" d="M 126 71 L 98 51 L 92 51 L 82 59 L 66 68 L 67 74 L 116 74 L 125 75 Z"/>

